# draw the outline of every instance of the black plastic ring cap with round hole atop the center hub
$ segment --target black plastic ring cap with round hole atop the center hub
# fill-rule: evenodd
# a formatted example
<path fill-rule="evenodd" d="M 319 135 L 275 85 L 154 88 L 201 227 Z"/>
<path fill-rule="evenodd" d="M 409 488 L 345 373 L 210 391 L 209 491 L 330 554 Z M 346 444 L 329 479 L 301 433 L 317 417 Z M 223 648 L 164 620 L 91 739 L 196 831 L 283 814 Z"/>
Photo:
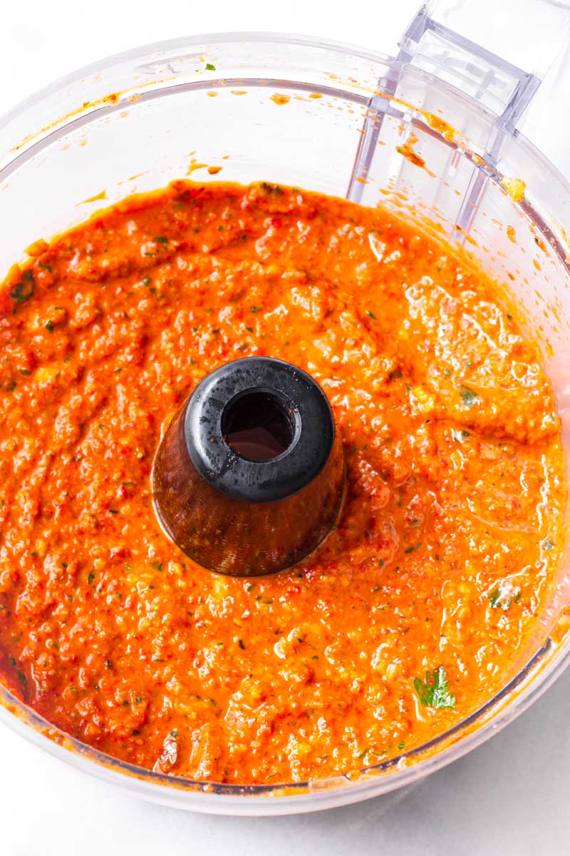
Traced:
<path fill-rule="evenodd" d="M 302 490 L 328 461 L 334 431 L 318 383 L 269 357 L 234 360 L 209 374 L 184 419 L 197 472 L 245 502 L 275 502 Z"/>

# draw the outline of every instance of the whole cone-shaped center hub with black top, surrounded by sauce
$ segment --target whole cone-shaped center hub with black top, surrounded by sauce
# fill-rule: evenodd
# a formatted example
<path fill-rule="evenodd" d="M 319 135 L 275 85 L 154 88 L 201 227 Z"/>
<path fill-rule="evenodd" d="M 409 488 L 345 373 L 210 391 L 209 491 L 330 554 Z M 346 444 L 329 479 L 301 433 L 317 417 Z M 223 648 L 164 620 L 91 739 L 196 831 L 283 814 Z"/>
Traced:
<path fill-rule="evenodd" d="M 164 532 L 193 562 L 218 574 L 274 574 L 308 556 L 338 520 L 342 437 L 302 369 L 235 360 L 173 415 L 151 481 Z"/>

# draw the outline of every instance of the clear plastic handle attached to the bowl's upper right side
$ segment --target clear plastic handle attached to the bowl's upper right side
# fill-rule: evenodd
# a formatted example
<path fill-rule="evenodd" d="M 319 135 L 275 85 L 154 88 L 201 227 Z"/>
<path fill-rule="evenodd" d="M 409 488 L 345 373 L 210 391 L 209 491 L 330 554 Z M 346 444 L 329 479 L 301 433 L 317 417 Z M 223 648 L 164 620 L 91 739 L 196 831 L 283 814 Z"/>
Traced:
<path fill-rule="evenodd" d="M 522 7 L 524 6 L 524 10 Z M 371 173 L 384 116 L 392 99 L 427 115 L 441 113 L 441 88 L 455 104 L 447 117 L 491 169 L 505 139 L 513 133 L 556 56 L 568 45 L 570 4 L 566 0 L 430 0 L 420 7 L 403 33 L 390 73 L 379 80 L 361 129 L 347 199 L 361 202 Z M 424 78 L 418 85 L 418 74 Z M 430 92 L 429 80 L 438 83 Z M 490 121 L 472 121 L 470 101 L 483 107 Z M 467 234 L 477 210 L 485 176 L 473 179 L 455 221 Z"/>

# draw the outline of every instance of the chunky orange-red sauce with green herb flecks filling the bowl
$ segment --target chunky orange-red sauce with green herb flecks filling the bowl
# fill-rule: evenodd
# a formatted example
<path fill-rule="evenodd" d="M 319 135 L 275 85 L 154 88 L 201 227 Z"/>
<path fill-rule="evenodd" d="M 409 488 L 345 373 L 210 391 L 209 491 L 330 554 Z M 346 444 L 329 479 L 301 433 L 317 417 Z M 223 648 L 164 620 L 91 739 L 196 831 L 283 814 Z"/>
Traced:
<path fill-rule="evenodd" d="M 496 288 L 384 211 L 176 182 L 29 251 L 0 294 L 0 670 L 141 767 L 300 782 L 420 746 L 497 692 L 565 499 L 538 350 Z M 210 574 L 162 534 L 162 426 L 227 360 L 321 384 L 338 527 L 295 568 Z"/>

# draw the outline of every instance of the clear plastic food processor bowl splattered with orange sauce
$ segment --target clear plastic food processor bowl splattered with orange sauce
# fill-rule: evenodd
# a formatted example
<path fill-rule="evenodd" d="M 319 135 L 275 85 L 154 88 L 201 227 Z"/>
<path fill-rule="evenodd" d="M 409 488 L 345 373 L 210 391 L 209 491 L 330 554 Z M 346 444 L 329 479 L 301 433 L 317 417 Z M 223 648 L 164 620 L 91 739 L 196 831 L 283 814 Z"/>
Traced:
<path fill-rule="evenodd" d="M 209 181 L 200 164 L 221 166 L 217 180 L 275 181 L 362 205 L 381 202 L 401 216 L 426 217 L 508 282 L 529 332 L 542 342 L 566 442 L 570 290 L 560 224 L 570 219 L 570 187 L 512 123 L 497 123 L 502 92 L 475 100 L 453 74 L 444 79 L 425 66 L 409 51 L 394 60 L 345 45 L 241 33 L 148 45 L 83 68 L 0 124 L 0 270 L 38 237 L 130 193 L 189 173 Z M 397 151 L 407 142 L 426 169 Z M 521 199 L 522 186 L 501 183 L 503 176 L 525 182 Z M 501 693 L 429 746 L 346 776 L 273 787 L 163 776 L 73 740 L 2 687 L 0 719 L 69 764 L 177 808 L 263 815 L 364 800 L 469 752 L 561 674 L 570 647 L 559 621 L 567 571 L 564 556 L 548 608 L 526 649 L 516 652 Z"/>

